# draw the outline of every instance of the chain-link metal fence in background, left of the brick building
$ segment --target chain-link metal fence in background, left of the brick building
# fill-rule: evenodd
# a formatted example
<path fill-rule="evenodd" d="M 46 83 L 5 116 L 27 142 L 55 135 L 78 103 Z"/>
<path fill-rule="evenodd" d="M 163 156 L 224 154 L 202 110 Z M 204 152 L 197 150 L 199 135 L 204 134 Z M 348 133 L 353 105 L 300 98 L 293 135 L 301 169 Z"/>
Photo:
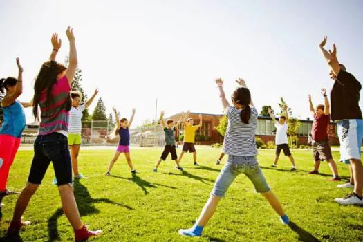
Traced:
<path fill-rule="evenodd" d="M 115 123 L 108 120 L 90 120 L 82 122 L 82 145 L 116 145 Z M 28 125 L 23 131 L 22 144 L 33 144 L 37 137 L 37 125 Z M 130 144 L 140 147 L 159 147 L 165 145 L 165 133 L 162 127 L 138 127 L 130 129 Z"/>

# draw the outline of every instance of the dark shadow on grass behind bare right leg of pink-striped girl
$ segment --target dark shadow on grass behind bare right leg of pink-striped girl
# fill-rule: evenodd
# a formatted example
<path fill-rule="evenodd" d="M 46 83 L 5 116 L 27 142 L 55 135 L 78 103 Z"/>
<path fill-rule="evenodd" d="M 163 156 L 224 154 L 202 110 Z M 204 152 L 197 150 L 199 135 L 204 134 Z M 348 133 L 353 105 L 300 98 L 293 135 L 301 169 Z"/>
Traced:
<path fill-rule="evenodd" d="M 121 207 L 125 207 L 128 210 L 133 210 L 132 207 L 128 205 L 124 205 L 122 203 L 117 203 L 111 201 L 108 198 L 92 198 L 91 194 L 87 187 L 82 185 L 79 180 L 74 180 L 74 194 L 75 194 L 75 201 L 77 202 L 78 211 L 80 212 L 80 216 L 86 216 L 89 214 L 98 214 L 100 210 L 97 210 L 94 203 L 108 203 L 111 205 L 118 205 Z M 59 232 L 57 229 L 57 222 L 58 218 L 63 215 L 62 208 L 58 208 L 55 213 L 50 216 L 48 220 L 48 241 L 60 241 Z"/>

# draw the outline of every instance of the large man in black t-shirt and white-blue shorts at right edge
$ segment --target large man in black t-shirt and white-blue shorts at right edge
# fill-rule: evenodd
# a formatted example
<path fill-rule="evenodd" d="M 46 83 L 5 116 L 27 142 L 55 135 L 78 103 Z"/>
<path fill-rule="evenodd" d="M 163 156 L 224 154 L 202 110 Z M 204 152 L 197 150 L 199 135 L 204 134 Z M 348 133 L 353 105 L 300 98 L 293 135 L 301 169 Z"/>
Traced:
<path fill-rule="evenodd" d="M 344 65 L 337 59 L 337 48 L 326 51 L 324 46 L 327 37 L 321 44 L 320 50 L 331 67 L 331 79 L 334 80 L 331 90 L 331 119 L 337 123 L 340 141 L 340 160 L 351 165 L 351 176 L 354 180 L 354 190 L 344 198 L 335 198 L 341 205 L 363 205 L 363 165 L 361 147 L 363 138 L 363 120 L 360 110 L 360 90 L 362 85 L 346 71 Z"/>

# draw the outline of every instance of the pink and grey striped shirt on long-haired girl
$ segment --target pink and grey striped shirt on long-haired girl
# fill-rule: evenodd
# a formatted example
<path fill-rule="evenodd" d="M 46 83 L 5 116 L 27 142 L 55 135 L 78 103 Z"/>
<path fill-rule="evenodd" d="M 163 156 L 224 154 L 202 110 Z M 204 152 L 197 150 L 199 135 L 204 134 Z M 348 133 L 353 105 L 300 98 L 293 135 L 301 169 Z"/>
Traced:
<path fill-rule="evenodd" d="M 41 92 L 39 135 L 44 136 L 55 132 L 65 136 L 68 134 L 69 111 L 66 110 L 66 102 L 71 98 L 70 92 L 71 86 L 66 76 L 57 80 L 52 86 L 50 110 L 47 110 L 46 106 L 46 90 Z"/>

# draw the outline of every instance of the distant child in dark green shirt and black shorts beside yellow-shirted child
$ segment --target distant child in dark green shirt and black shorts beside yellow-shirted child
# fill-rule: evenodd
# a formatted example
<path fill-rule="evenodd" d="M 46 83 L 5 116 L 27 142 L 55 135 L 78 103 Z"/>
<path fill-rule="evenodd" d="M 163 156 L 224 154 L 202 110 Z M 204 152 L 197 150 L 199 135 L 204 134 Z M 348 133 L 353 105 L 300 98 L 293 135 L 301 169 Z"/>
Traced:
<path fill-rule="evenodd" d="M 178 120 L 175 126 L 174 126 L 174 120 L 167 120 L 167 123 L 165 125 L 164 114 L 165 114 L 164 111 L 162 111 L 160 115 L 160 121 L 162 124 L 162 129 L 164 129 L 165 132 L 165 148 L 164 151 L 162 151 L 160 160 L 158 160 L 158 162 L 156 163 L 156 167 L 155 169 L 153 169 L 153 172 L 158 171 L 158 167 L 161 161 L 162 160 L 165 161 L 169 153 L 171 153 L 171 160 L 174 160 L 176 162 L 176 168 L 180 171 L 183 171 L 183 168 L 180 167 L 179 165 L 178 155 L 176 154 L 175 138 L 174 138 L 174 133 L 177 127 L 179 126 L 182 118 Z"/>

